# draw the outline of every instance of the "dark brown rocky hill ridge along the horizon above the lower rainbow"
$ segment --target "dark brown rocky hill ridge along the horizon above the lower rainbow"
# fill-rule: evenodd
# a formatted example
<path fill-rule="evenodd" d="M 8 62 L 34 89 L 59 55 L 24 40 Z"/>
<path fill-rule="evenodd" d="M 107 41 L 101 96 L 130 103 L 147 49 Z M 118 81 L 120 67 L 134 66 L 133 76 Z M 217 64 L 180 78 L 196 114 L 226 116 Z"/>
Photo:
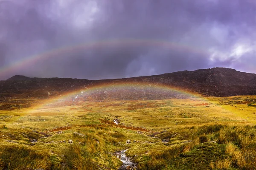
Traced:
<path fill-rule="evenodd" d="M 124 79 L 70 79 L 29 78 L 15 75 L 0 81 L 0 97 L 20 95 L 45 98 L 48 92 L 60 95 L 67 91 L 112 82 L 154 82 L 183 88 L 205 96 L 256 95 L 256 74 L 244 73 L 231 68 L 209 68 L 196 71 L 178 71 L 161 75 Z M 150 99 L 154 99 L 151 97 Z"/>

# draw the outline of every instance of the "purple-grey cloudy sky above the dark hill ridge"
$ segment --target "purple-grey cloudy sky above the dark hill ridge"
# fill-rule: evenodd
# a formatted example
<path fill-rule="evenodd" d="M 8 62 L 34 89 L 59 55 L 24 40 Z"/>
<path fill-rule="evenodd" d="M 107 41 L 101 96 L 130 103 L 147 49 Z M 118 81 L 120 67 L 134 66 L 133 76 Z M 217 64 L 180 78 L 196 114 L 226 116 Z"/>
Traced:
<path fill-rule="evenodd" d="M 255 30 L 255 0 L 0 0 L 0 79 L 256 73 Z"/>

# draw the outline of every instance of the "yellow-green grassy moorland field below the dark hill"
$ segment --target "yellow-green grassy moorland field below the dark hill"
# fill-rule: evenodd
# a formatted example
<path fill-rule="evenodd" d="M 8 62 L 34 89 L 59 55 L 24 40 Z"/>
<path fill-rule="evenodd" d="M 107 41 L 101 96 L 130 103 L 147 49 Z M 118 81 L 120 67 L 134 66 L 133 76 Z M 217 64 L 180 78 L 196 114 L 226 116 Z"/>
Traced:
<path fill-rule="evenodd" d="M 0 111 L 0 169 L 256 169 L 256 96 L 44 102 Z"/>

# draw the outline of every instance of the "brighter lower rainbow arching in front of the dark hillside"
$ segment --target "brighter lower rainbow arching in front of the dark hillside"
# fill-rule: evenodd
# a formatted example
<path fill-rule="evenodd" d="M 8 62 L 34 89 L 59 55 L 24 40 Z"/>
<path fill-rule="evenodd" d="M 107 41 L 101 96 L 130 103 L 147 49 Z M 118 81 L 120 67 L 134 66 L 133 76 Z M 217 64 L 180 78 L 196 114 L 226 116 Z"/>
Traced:
<path fill-rule="evenodd" d="M 107 83 L 99 83 L 96 85 L 88 85 L 85 88 L 81 88 L 79 90 L 69 91 L 65 94 L 61 94 L 61 96 L 53 97 L 51 99 L 48 99 L 44 101 L 41 105 L 38 105 L 35 107 L 35 109 L 38 108 L 45 108 L 48 106 L 56 106 L 59 103 L 68 102 L 69 105 L 74 104 L 76 102 L 80 101 L 80 98 L 84 96 L 89 96 L 93 93 L 98 93 L 106 91 L 131 91 L 131 89 L 135 90 L 145 90 L 146 92 L 154 92 L 154 93 L 165 93 L 165 94 L 174 94 L 176 97 L 181 98 L 200 98 L 202 99 L 203 96 L 200 94 L 192 93 L 191 91 L 187 91 L 178 87 L 160 84 L 160 83 L 152 83 L 152 82 L 123 82 L 122 80 L 112 80 L 111 82 Z M 110 92 L 111 93 L 111 92 Z M 173 97 L 175 98 L 175 97 Z M 82 100 L 84 101 L 84 100 Z M 86 102 L 86 101 L 85 101 Z"/>

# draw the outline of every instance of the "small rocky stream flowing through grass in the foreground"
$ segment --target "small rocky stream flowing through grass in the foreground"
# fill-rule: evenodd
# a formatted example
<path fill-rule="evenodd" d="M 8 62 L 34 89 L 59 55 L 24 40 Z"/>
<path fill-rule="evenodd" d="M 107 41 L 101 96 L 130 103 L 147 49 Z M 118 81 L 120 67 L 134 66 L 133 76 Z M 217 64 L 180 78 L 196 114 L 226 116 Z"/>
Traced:
<path fill-rule="evenodd" d="M 137 163 L 132 162 L 131 159 L 126 156 L 126 150 L 122 150 L 119 152 L 119 159 L 122 161 L 123 164 L 118 168 L 118 170 L 136 170 Z"/>

